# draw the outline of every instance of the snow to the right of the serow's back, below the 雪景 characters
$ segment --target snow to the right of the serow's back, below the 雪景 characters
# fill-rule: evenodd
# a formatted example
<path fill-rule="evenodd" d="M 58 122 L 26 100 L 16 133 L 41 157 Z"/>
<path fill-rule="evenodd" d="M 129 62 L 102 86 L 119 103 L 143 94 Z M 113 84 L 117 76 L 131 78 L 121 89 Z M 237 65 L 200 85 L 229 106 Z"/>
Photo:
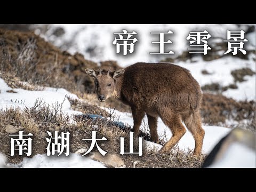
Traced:
<path fill-rule="evenodd" d="M 198 57 L 195 61 L 193 63 L 179 61 L 176 64 L 190 70 L 193 77 L 201 86 L 211 83 L 228 86 L 234 84 L 234 77 L 230 73 L 232 70 L 250 68 L 255 71 L 255 61 L 253 59 L 243 60 L 228 56 L 217 60 L 204 61 Z M 210 75 L 203 75 L 202 70 L 208 71 Z M 222 92 L 222 94 L 235 100 L 247 99 L 255 101 L 256 76 L 245 76 L 244 78 L 247 81 L 237 83 L 238 89 L 228 89 Z"/>

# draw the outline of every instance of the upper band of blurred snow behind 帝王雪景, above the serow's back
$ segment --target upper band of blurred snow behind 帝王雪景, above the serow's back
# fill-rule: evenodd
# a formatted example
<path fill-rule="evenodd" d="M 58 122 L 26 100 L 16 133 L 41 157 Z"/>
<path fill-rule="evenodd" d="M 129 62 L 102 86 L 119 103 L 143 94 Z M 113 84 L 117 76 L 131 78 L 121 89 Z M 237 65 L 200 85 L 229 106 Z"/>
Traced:
<path fill-rule="evenodd" d="M 62 27 L 65 30 L 65 34 L 55 38 L 52 34 L 57 27 Z M 115 45 L 112 44 L 115 39 L 114 33 L 121 33 L 122 29 L 127 30 L 129 33 L 135 31 L 138 34 L 138 37 L 136 37 L 138 42 L 135 43 L 135 51 L 132 57 L 124 57 L 116 54 Z M 50 30 L 42 36 L 54 42 L 57 46 L 65 47 L 65 44 L 68 43 L 67 49 L 69 52 L 80 52 L 87 59 L 96 62 L 117 60 L 119 65 L 127 66 L 139 61 L 154 62 L 166 57 L 166 55 L 161 55 L 160 57 L 159 55 L 149 54 L 159 49 L 158 46 L 151 43 L 159 39 L 159 35 L 153 35 L 151 32 L 167 32 L 171 30 L 173 34 L 169 35 L 168 39 L 172 43 L 166 49 L 172 50 L 178 56 L 188 49 L 186 37 L 190 31 L 199 32 L 207 30 L 212 38 L 227 39 L 227 30 L 246 31 L 246 29 L 246 25 L 238 27 L 235 24 L 53 24 L 50 26 Z M 36 31 L 36 33 L 40 34 L 40 31 Z M 255 33 L 254 36 L 249 34 L 245 37 L 249 39 L 249 44 L 253 45 L 255 42 Z M 94 50 L 93 54 L 89 50 Z"/>

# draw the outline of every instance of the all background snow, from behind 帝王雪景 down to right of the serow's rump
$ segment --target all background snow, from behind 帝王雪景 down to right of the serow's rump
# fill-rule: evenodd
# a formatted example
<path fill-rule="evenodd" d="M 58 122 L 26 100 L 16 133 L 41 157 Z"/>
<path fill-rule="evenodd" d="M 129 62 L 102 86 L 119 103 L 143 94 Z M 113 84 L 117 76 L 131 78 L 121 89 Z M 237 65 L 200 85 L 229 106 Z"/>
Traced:
<path fill-rule="evenodd" d="M 255 24 L 254 24 L 255 25 Z M 53 31 L 58 27 L 64 29 L 65 33 L 62 36 L 56 37 Z M 95 62 L 103 60 L 116 60 L 122 67 L 132 65 L 135 62 L 158 62 L 166 57 L 177 57 L 183 51 L 187 51 L 189 43 L 186 39 L 190 31 L 204 31 L 207 30 L 211 34 L 209 43 L 223 42 L 227 39 L 227 30 L 231 31 L 246 31 L 248 25 L 235 25 L 235 24 L 193 24 L 193 25 L 178 25 L 178 24 L 54 24 L 46 34 L 41 34 L 36 30 L 37 34 L 41 34 L 46 40 L 53 42 L 55 45 L 62 47 L 63 50 L 68 50 L 71 53 L 79 52 L 84 55 L 86 59 Z M 138 42 L 135 43 L 135 51 L 131 55 L 116 54 L 115 45 L 112 42 L 115 39 L 113 33 L 121 32 L 126 29 L 128 32 L 133 30 L 138 34 Z M 156 55 L 149 54 L 159 49 L 151 42 L 158 41 L 157 35 L 150 34 L 156 31 L 169 31 L 172 30 L 173 34 L 166 37 L 173 43 L 166 46 L 167 50 L 172 50 L 174 55 Z M 248 42 L 245 47 L 250 50 L 255 50 L 255 31 L 245 34 Z M 167 40 L 166 40 L 167 41 Z M 225 51 L 221 50 L 220 55 Z M 231 53 L 228 57 L 215 59 L 212 61 L 204 61 L 201 57 L 193 58 L 193 62 L 187 60 L 175 61 L 176 65 L 187 68 L 191 74 L 199 82 L 201 86 L 211 83 L 219 83 L 221 86 L 228 86 L 234 84 L 234 78 L 231 75 L 231 70 L 241 69 L 248 67 L 255 71 L 255 53 L 249 54 L 249 59 L 239 59 Z M 202 70 L 207 70 L 211 75 L 203 75 Z M 255 75 L 246 76 L 246 82 L 237 83 L 238 89 L 228 89 L 223 92 L 223 95 L 236 99 L 236 100 L 255 100 Z"/>

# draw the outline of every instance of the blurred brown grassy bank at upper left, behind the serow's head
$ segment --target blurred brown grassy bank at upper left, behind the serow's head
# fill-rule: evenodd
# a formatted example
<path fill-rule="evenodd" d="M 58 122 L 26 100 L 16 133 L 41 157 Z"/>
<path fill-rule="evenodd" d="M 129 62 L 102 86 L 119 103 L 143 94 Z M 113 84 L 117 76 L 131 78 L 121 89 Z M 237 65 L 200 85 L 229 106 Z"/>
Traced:
<path fill-rule="evenodd" d="M 96 67 L 82 54 L 62 52 L 32 32 L 0 29 L 0 72 L 11 72 L 22 82 L 92 92 L 93 81 L 84 68 Z"/>

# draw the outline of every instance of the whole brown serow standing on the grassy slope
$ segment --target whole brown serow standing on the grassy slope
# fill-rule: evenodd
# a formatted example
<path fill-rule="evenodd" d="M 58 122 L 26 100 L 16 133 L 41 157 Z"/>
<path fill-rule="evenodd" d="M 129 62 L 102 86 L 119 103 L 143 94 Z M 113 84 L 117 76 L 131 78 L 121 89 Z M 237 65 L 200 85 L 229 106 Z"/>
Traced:
<path fill-rule="evenodd" d="M 131 107 L 135 135 L 139 134 L 146 113 L 151 140 L 158 143 L 157 118 L 160 117 L 172 132 L 162 149 L 167 152 L 186 133 L 183 121 L 194 136 L 194 154 L 201 154 L 204 139 L 199 111 L 202 92 L 189 70 L 171 63 L 139 62 L 115 71 L 85 71 L 94 78 L 100 102 L 114 96 Z"/>

